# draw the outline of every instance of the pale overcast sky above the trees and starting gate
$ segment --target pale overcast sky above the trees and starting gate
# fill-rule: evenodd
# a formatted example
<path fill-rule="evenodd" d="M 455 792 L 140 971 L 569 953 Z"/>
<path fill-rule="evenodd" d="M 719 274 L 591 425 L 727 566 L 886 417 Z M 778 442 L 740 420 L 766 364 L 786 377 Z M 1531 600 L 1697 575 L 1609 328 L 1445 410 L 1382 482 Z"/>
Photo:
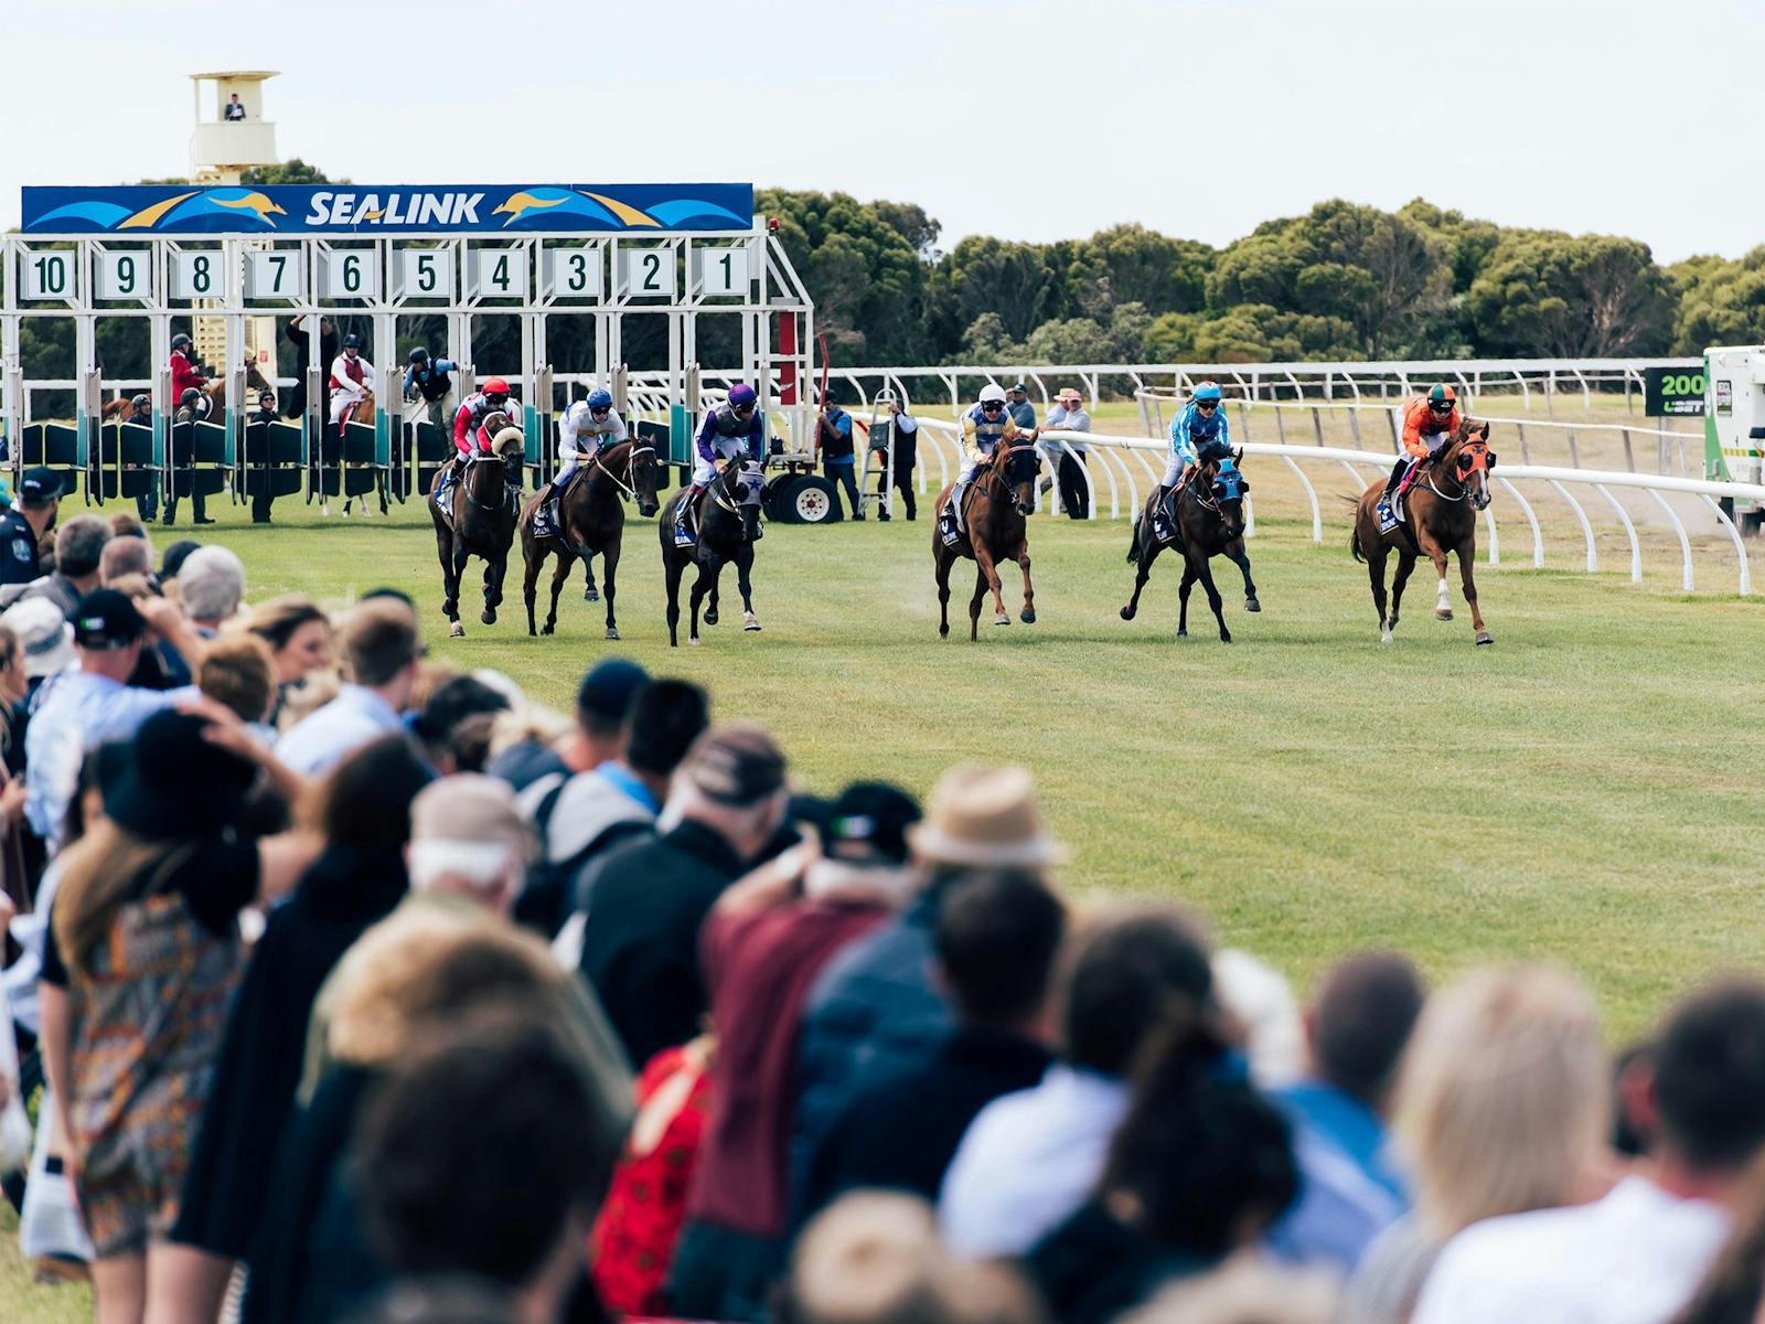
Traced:
<path fill-rule="evenodd" d="M 1417 194 L 1765 242 L 1765 0 L 0 0 L 0 49 L 5 228 L 21 184 L 187 173 L 185 74 L 242 67 L 357 184 L 842 189 L 944 247 Z"/>

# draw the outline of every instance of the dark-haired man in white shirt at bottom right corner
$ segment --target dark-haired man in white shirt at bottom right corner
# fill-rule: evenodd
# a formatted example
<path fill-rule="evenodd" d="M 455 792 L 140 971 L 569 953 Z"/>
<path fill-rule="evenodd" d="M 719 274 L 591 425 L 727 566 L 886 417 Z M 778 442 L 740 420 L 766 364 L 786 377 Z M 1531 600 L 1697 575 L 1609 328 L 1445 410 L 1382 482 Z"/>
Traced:
<path fill-rule="evenodd" d="M 1666 1324 L 1731 1229 L 1765 1147 L 1765 985 L 1731 980 L 1668 1019 L 1647 1084 L 1656 1146 L 1599 1200 L 1491 1218 L 1447 1241 L 1414 1324 Z"/>

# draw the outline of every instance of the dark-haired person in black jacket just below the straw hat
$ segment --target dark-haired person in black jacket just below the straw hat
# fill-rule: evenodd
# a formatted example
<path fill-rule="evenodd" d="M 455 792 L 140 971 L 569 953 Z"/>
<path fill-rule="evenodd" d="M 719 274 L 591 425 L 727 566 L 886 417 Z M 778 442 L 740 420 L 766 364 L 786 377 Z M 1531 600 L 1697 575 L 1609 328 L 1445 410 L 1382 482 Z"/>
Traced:
<path fill-rule="evenodd" d="M 944 893 L 934 950 L 957 1033 L 923 1066 L 865 1089 L 828 1126 L 796 1222 L 867 1186 L 937 1199 L 974 1114 L 1029 1089 L 1052 1061 L 1043 1008 L 1064 927 L 1064 907 L 1036 874 L 976 874 Z"/>

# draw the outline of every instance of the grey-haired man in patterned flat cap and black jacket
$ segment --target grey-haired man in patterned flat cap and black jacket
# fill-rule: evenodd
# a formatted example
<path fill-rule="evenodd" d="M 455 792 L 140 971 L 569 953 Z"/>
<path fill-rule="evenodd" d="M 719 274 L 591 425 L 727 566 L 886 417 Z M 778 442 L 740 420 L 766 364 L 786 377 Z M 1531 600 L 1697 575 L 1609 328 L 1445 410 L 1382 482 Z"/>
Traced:
<path fill-rule="evenodd" d="M 582 978 L 634 1064 L 699 1034 L 699 925 L 782 823 L 784 771 L 759 727 L 713 727 L 674 775 L 680 826 L 611 851 L 584 877 Z"/>

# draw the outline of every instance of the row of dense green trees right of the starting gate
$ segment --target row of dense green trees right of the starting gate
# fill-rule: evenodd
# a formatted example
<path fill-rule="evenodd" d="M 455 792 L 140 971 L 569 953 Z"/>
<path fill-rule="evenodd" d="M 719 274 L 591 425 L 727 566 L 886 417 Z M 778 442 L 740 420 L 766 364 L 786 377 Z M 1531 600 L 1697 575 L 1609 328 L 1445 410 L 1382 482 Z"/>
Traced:
<path fill-rule="evenodd" d="M 1121 224 L 948 252 L 911 203 L 768 189 L 757 207 L 837 365 L 1694 355 L 1765 339 L 1765 245 L 1671 267 L 1615 235 L 1341 199 L 1214 249 Z"/>

